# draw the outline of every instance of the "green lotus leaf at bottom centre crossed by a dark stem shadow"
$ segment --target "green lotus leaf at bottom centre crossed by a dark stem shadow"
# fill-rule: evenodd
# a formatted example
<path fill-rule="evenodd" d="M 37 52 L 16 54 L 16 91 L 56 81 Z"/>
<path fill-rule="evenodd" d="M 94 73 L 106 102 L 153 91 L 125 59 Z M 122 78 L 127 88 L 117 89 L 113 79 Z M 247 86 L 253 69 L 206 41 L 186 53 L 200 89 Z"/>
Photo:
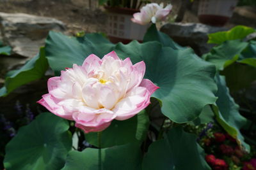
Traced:
<path fill-rule="evenodd" d="M 131 143 L 111 148 L 86 148 L 83 152 L 68 153 L 66 164 L 61 170 L 107 170 L 141 169 L 142 153 L 138 143 Z"/>

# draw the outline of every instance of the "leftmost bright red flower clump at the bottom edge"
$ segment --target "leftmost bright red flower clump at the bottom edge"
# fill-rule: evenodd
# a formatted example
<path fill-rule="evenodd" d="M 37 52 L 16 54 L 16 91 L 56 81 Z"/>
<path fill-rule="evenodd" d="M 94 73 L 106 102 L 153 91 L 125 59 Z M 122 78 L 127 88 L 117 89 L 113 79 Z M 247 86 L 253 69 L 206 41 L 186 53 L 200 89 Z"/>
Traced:
<path fill-rule="evenodd" d="M 214 170 L 227 170 L 228 165 L 223 159 L 216 159 L 214 155 L 206 155 L 205 160 Z"/>

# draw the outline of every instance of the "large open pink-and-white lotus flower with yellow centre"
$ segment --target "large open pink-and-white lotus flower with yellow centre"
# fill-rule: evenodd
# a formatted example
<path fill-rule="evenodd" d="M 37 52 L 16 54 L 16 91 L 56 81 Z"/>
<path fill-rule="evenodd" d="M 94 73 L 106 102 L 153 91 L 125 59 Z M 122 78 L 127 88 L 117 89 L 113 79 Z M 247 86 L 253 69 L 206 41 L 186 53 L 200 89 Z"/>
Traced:
<path fill-rule="evenodd" d="M 115 52 L 99 59 L 89 55 L 82 66 L 61 71 L 49 78 L 49 94 L 38 103 L 55 115 L 74 120 L 84 132 L 106 129 L 113 119 L 133 117 L 150 104 L 150 96 L 158 89 L 143 79 L 145 63 L 132 65 L 129 58 L 120 60 Z"/>

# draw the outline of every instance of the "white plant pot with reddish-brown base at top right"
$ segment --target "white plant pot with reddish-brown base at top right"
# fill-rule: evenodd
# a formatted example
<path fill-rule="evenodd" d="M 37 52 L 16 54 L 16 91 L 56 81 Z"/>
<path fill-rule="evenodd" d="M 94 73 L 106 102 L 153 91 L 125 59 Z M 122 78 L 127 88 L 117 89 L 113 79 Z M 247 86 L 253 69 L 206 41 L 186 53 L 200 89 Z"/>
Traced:
<path fill-rule="evenodd" d="M 223 26 L 232 16 L 237 0 L 200 0 L 198 18 L 203 24 Z"/>

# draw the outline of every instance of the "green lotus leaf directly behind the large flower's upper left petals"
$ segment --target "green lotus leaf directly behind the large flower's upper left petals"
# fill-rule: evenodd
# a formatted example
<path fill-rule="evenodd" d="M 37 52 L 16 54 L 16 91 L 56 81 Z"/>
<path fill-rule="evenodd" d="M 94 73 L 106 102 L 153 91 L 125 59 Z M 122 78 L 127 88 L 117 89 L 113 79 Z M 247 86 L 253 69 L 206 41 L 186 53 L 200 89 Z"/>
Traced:
<path fill-rule="evenodd" d="M 50 67 L 56 74 L 60 74 L 65 67 L 82 65 L 84 59 L 92 53 L 103 57 L 111 52 L 114 46 L 100 34 L 86 34 L 77 38 L 50 31 L 45 41 L 45 55 Z"/>

